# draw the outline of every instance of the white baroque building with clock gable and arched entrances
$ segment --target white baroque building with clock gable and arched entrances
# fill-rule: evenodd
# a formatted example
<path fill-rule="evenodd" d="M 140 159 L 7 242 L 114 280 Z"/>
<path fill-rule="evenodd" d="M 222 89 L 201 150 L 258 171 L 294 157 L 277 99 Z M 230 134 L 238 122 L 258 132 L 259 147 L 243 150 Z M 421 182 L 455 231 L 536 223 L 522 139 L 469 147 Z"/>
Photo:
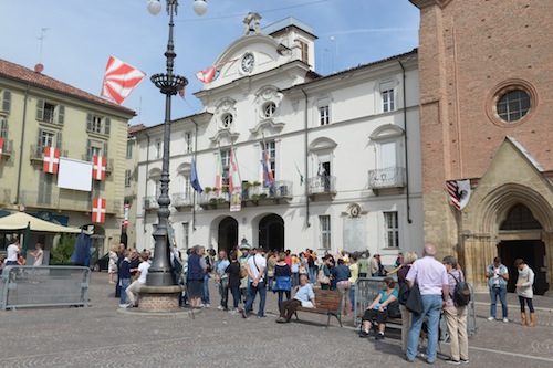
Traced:
<path fill-rule="evenodd" d="M 179 249 L 254 246 L 320 254 L 369 250 L 393 264 L 424 242 L 417 50 L 321 76 L 310 25 L 289 18 L 247 31 L 213 61 L 195 95 L 204 112 L 176 119 L 170 221 Z M 139 146 L 136 243 L 153 248 L 163 125 Z M 263 186 L 268 147 L 274 187 Z M 230 211 L 234 148 L 242 200 Z M 223 190 L 216 193 L 219 153 Z M 192 158 L 205 191 L 190 186 Z M 211 190 L 209 190 L 211 189 Z"/>

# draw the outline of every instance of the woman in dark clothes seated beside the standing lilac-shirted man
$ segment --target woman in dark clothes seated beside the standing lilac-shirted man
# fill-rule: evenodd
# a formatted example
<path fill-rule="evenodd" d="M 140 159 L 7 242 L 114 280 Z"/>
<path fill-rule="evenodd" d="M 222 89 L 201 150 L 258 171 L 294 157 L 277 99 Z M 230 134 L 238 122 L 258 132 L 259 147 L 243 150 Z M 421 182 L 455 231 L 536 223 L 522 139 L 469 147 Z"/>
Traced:
<path fill-rule="evenodd" d="M 394 288 L 396 285 L 394 278 L 385 277 L 384 278 L 384 288 L 380 293 L 375 297 L 373 303 L 365 309 L 365 314 L 363 315 L 363 328 L 361 330 L 361 337 L 368 336 L 368 329 L 373 319 L 376 317 L 376 322 L 378 323 L 378 334 L 376 334 L 375 338 L 384 339 L 384 329 L 386 328 L 386 318 L 388 317 L 388 305 L 397 299 L 397 291 Z"/>

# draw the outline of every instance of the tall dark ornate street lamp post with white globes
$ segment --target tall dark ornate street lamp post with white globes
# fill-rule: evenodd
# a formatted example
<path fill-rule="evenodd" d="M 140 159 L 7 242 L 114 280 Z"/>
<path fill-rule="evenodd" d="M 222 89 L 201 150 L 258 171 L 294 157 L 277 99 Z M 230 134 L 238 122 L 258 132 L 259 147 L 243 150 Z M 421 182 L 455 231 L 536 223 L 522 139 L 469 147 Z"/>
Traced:
<path fill-rule="evenodd" d="M 167 14 L 169 15 L 169 40 L 167 42 L 167 51 L 165 57 L 167 59 L 166 73 L 159 73 L 152 76 L 152 82 L 165 95 L 165 120 L 164 120 L 164 156 L 161 160 L 161 193 L 157 200 L 159 209 L 157 211 L 158 224 L 153 236 L 155 240 L 154 261 L 149 267 L 146 277 L 147 286 L 171 286 L 175 285 L 175 280 L 171 274 L 171 264 L 169 261 L 169 242 L 167 231 L 167 220 L 169 219 L 170 198 L 169 198 L 169 145 L 170 145 L 170 120 L 171 120 L 171 97 L 182 90 L 188 81 L 186 77 L 175 75 L 173 66 L 175 57 L 175 46 L 173 43 L 173 18 L 177 14 L 178 0 L 167 1 Z M 159 0 L 149 0 L 147 2 L 148 11 L 156 15 L 161 10 Z M 198 15 L 204 15 L 207 11 L 207 3 L 205 0 L 194 1 L 194 11 Z"/>

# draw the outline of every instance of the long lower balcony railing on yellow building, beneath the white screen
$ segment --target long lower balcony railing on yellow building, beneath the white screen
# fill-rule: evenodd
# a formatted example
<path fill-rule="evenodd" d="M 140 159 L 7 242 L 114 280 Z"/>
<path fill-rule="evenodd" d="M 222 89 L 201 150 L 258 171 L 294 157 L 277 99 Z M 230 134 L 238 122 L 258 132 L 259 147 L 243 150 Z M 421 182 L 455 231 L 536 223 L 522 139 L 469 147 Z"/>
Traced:
<path fill-rule="evenodd" d="M 25 207 L 51 209 L 59 211 L 91 212 L 92 199 L 90 193 L 80 191 L 62 191 L 60 193 L 22 190 L 19 202 Z M 106 213 L 122 213 L 121 200 L 106 200 Z"/>

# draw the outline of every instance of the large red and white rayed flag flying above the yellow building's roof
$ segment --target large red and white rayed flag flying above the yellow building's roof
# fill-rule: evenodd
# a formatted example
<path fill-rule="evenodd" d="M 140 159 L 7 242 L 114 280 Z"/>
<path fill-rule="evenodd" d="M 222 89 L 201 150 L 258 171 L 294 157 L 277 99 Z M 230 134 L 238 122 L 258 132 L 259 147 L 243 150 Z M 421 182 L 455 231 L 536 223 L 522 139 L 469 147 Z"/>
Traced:
<path fill-rule="evenodd" d="M 102 96 L 112 98 L 121 105 L 145 76 L 146 73 L 143 71 L 109 56 L 102 84 Z"/>

